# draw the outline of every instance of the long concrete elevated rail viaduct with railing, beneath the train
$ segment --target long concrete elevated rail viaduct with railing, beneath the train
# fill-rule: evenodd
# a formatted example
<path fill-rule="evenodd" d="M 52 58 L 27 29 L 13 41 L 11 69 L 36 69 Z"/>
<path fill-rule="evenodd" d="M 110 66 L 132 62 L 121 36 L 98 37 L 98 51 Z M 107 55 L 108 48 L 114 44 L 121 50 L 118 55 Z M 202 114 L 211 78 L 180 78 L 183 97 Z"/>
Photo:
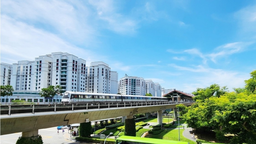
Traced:
<path fill-rule="evenodd" d="M 189 106 L 193 101 L 180 102 Z M 173 102 L 106 102 L 48 105 L 1 105 L 0 134 L 23 132 L 23 137 L 38 135 L 39 129 L 96 121 L 113 117 L 176 108 Z M 158 118 L 159 123 L 162 119 Z"/>

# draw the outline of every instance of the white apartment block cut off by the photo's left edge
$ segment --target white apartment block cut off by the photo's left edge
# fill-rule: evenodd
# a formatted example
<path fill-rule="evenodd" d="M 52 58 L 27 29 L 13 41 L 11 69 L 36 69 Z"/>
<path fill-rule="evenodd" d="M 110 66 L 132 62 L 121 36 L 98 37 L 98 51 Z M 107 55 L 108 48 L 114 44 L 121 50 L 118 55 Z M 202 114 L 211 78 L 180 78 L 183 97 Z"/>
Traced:
<path fill-rule="evenodd" d="M 12 65 L 6 64 L 6 63 L 1 63 L 1 68 L 0 68 L 0 85 L 5 86 L 5 85 L 10 85 L 11 82 L 11 70 L 12 70 Z"/>

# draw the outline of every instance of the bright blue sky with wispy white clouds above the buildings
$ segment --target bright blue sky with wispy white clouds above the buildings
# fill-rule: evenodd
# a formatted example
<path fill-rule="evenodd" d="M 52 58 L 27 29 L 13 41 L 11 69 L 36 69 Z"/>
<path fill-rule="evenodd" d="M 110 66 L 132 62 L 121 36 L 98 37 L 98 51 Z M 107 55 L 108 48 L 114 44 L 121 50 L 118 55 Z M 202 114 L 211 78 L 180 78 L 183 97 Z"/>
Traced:
<path fill-rule="evenodd" d="M 256 1 L 1 0 L 1 62 L 51 52 L 193 92 L 256 70 Z"/>

